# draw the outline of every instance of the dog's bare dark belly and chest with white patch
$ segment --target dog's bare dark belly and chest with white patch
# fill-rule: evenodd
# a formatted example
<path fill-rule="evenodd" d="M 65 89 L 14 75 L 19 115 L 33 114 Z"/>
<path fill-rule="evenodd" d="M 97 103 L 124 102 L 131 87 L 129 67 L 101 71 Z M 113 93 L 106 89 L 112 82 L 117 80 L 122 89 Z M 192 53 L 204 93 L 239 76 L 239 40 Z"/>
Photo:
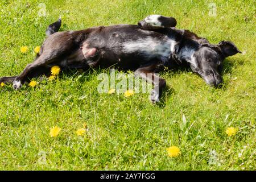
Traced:
<path fill-rule="evenodd" d="M 150 61 L 165 63 L 175 51 L 176 42 L 164 34 L 142 30 L 138 26 L 119 25 L 104 27 L 90 35 L 83 45 L 96 48 L 96 57 L 89 59 L 91 66 L 107 68 L 115 65 L 122 69 L 136 69 Z"/>

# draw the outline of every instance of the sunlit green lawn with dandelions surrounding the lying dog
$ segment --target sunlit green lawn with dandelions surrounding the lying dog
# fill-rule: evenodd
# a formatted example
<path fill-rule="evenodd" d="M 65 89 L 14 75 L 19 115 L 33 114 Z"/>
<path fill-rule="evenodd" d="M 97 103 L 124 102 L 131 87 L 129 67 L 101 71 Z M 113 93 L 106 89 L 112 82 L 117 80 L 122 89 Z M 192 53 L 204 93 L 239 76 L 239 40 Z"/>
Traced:
<path fill-rule="evenodd" d="M 174 16 L 211 43 L 232 40 L 243 54 L 224 61 L 224 87 L 210 88 L 189 71 L 160 73 L 168 89 L 161 104 L 148 94 L 99 94 L 98 73 L 60 75 L 36 88 L 0 88 L 0 169 L 254 170 L 255 1 L 42 1 L 0 2 L 0 76 L 18 75 L 35 57 L 48 24 L 61 31 L 131 23 L 149 14 Z M 209 16 L 209 3 L 217 16 Z M 30 50 L 22 54 L 19 48 Z M 81 76 L 80 76 L 81 75 Z M 184 117 L 183 117 L 184 115 Z M 86 124 L 88 131 L 75 131 Z M 61 128 L 49 137 L 53 126 Z M 236 127 L 233 137 L 227 127 Z M 166 148 L 180 148 L 170 158 Z M 45 160 L 44 158 L 45 154 Z M 43 161 L 43 163 L 42 163 Z"/>

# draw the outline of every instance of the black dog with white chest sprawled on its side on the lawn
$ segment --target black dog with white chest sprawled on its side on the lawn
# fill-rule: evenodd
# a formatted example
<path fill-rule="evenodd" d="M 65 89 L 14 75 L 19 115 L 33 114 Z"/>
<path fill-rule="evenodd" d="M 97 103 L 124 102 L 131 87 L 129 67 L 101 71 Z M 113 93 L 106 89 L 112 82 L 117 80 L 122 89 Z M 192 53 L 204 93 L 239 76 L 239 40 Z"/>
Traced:
<path fill-rule="evenodd" d="M 207 84 L 217 86 L 222 81 L 219 71 L 222 61 L 240 52 L 232 42 L 210 44 L 188 30 L 179 30 L 175 28 L 174 18 L 161 15 L 147 16 L 138 25 L 57 32 L 60 26 L 59 19 L 48 27 L 48 38 L 33 63 L 19 76 L 2 77 L 0 82 L 11 82 L 14 89 L 19 89 L 33 77 L 49 75 L 53 65 L 59 65 L 61 70 L 114 65 L 118 69 L 132 70 L 136 76 L 152 82 L 154 89 L 150 100 L 158 102 L 166 86 L 163 78 L 154 75 L 159 67 L 171 68 L 174 64 L 185 63 Z"/>

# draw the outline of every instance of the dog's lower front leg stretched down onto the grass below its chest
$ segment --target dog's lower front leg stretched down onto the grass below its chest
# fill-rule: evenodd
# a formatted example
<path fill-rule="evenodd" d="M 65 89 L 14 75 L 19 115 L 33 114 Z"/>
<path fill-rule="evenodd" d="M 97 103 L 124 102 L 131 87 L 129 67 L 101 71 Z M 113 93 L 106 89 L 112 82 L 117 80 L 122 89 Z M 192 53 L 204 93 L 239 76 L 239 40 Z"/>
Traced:
<path fill-rule="evenodd" d="M 134 72 L 135 76 L 142 77 L 154 85 L 154 89 L 152 89 L 150 94 L 150 100 L 153 103 L 159 102 L 163 89 L 166 87 L 166 80 L 155 74 L 155 69 L 158 67 L 158 65 L 159 64 L 153 64 L 146 67 L 141 67 Z"/>

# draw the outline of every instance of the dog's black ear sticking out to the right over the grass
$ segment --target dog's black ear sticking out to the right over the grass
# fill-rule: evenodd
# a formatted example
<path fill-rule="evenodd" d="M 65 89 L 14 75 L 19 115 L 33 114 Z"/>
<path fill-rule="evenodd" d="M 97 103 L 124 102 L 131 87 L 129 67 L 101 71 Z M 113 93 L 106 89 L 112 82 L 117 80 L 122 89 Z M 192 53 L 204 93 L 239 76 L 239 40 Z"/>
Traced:
<path fill-rule="evenodd" d="M 242 53 L 239 51 L 239 49 L 236 47 L 236 45 L 233 42 L 222 40 L 218 43 L 218 46 L 221 48 L 222 53 L 225 57 L 233 56 L 236 53 Z"/>

